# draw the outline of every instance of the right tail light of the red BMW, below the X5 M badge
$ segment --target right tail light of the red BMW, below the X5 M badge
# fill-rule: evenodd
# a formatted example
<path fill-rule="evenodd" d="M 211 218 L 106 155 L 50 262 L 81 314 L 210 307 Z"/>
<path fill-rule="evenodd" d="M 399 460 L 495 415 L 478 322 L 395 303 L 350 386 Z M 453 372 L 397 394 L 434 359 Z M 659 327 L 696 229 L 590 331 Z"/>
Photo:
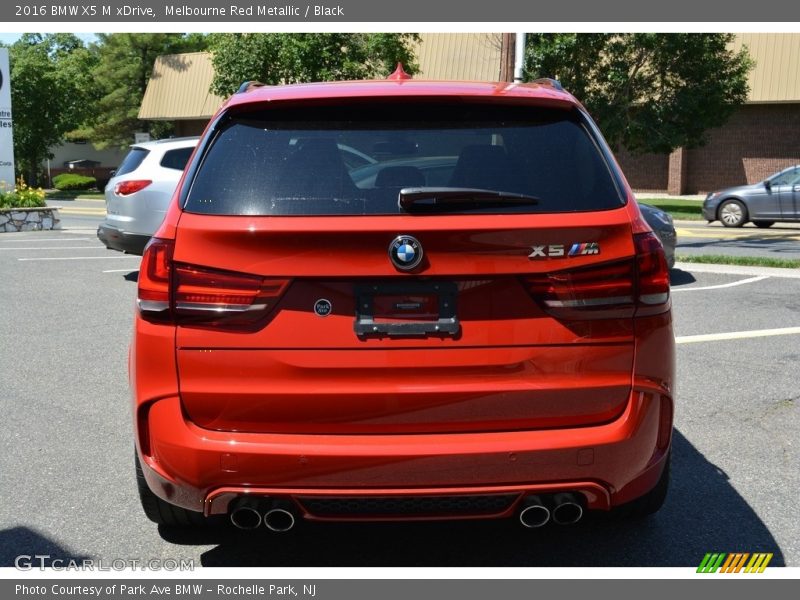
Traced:
<path fill-rule="evenodd" d="M 563 319 L 654 315 L 669 310 L 669 269 L 652 233 L 634 235 L 633 259 L 532 275 L 524 279 L 533 298 Z"/>

